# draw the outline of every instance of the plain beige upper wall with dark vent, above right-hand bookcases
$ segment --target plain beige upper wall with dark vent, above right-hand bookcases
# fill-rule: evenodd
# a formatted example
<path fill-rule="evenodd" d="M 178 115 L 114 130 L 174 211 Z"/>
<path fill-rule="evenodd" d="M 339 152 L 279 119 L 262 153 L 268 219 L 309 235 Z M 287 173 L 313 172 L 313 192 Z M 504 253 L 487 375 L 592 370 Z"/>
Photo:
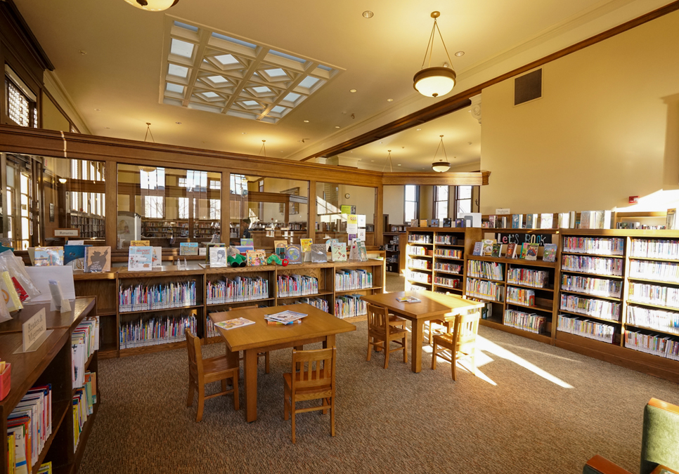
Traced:
<path fill-rule="evenodd" d="M 678 58 L 675 12 L 548 63 L 541 99 L 515 107 L 514 79 L 484 89 L 481 212 L 612 209 L 659 190 Z"/>

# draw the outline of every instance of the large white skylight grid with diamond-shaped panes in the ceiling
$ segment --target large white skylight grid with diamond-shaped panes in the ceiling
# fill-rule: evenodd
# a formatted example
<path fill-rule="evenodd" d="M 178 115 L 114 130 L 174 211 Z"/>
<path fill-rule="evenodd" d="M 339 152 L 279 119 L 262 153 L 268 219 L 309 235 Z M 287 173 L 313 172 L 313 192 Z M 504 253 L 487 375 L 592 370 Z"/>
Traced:
<path fill-rule="evenodd" d="M 275 124 L 340 72 L 188 22 L 167 25 L 168 105 Z"/>

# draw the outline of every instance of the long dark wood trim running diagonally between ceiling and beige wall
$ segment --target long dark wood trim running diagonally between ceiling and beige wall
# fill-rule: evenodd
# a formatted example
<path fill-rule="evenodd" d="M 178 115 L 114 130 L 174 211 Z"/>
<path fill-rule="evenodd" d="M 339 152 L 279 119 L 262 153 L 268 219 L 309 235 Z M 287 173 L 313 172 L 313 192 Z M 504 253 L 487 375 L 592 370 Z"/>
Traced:
<path fill-rule="evenodd" d="M 518 76 L 519 74 L 523 74 L 524 72 L 528 72 L 532 69 L 535 69 L 536 67 L 540 67 L 542 65 L 547 64 L 548 62 L 552 62 L 553 60 L 563 58 L 566 55 L 575 53 L 576 51 L 580 51 L 581 49 L 587 48 L 588 46 L 600 43 L 601 41 L 604 41 L 604 39 L 612 38 L 617 34 L 626 32 L 629 29 L 633 29 L 635 27 L 638 27 L 639 25 L 643 25 L 644 23 L 660 18 L 676 10 L 679 10 L 679 1 L 673 1 L 671 4 L 667 4 L 666 6 L 658 8 L 657 10 L 651 11 L 649 13 L 645 13 L 645 15 L 641 15 L 637 18 L 634 18 L 633 20 L 624 22 L 622 25 L 618 25 L 616 27 L 612 27 L 611 29 L 607 29 L 604 32 L 595 34 L 593 37 L 584 39 L 583 41 L 579 41 L 578 43 L 568 46 L 567 48 L 563 48 L 560 51 L 556 51 L 555 53 L 546 55 L 543 58 L 529 62 L 528 64 L 523 65 L 522 67 L 517 67 L 517 69 L 515 70 L 505 72 L 505 74 L 500 74 L 499 76 L 494 77 L 493 79 L 489 79 L 488 81 L 482 82 L 477 86 L 468 88 L 466 91 L 457 93 L 455 94 L 455 96 L 443 99 L 438 103 L 429 105 L 429 107 L 425 107 L 424 109 L 420 109 L 417 112 L 408 114 L 406 115 L 406 117 L 396 119 L 394 121 L 389 122 L 388 124 L 377 127 L 377 129 L 373 129 L 367 133 L 363 133 L 363 135 L 360 135 L 355 138 L 350 138 L 349 140 L 346 140 L 338 145 L 326 148 L 321 152 L 314 153 L 309 157 L 301 159 L 300 161 L 306 162 L 316 157 L 328 157 L 333 154 L 347 152 L 362 145 L 366 145 L 368 143 L 377 141 L 380 138 L 384 138 L 393 135 L 394 133 L 398 133 L 399 131 L 410 129 L 413 126 L 417 126 L 424 123 L 425 121 L 437 119 L 439 117 L 443 117 L 446 114 L 450 114 L 451 112 L 455 112 L 455 110 L 460 110 L 465 107 L 469 107 L 471 105 L 470 98 L 477 96 L 479 93 L 481 93 L 481 91 L 483 91 L 484 88 L 493 86 L 493 84 L 498 84 L 498 82 L 505 81 L 506 79 Z"/>

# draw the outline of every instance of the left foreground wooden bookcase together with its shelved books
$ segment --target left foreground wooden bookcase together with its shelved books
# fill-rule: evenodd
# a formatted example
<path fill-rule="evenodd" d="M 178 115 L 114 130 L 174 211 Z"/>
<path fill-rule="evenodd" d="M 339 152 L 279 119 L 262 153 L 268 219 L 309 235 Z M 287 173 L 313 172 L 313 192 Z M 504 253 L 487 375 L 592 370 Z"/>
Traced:
<path fill-rule="evenodd" d="M 15 352 L 22 348 L 21 331 L 0 334 L 2 383 L 11 380 L 11 390 L 0 401 L 0 433 L 5 436 L 1 474 L 76 473 L 79 468 L 101 402 L 96 305 L 88 304 L 91 299 L 80 302 L 70 324 L 62 324 L 59 312 L 47 313 L 52 332 L 34 352 Z M 39 306 L 22 311 L 32 308 L 35 312 Z"/>

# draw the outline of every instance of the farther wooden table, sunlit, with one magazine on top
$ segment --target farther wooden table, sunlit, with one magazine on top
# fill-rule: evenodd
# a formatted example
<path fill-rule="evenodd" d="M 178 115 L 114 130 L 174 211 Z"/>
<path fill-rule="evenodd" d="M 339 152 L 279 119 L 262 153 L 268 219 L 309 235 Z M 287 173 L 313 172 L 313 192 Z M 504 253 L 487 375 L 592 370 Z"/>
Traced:
<path fill-rule="evenodd" d="M 400 303 L 396 298 L 402 296 L 414 296 L 421 300 L 420 303 Z M 483 308 L 484 303 L 470 301 L 461 296 L 445 295 L 434 291 L 398 291 L 396 293 L 383 293 L 361 296 L 363 301 L 373 305 L 388 308 L 389 312 L 405 317 L 413 324 L 413 342 L 411 362 L 413 372 L 422 370 L 422 334 L 424 333 L 425 321 L 444 320 L 456 315 L 466 313 L 468 310 Z"/>

